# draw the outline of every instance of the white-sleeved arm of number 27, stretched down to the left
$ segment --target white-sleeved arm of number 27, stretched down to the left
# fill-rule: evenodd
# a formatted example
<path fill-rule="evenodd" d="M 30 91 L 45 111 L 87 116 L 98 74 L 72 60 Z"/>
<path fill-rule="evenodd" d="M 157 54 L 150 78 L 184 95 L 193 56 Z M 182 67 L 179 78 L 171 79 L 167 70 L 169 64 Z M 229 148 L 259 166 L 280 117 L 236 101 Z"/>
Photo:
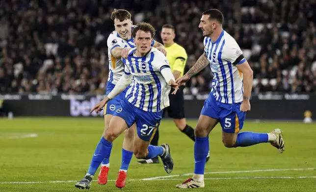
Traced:
<path fill-rule="evenodd" d="M 124 73 L 123 76 L 120 78 L 120 80 L 118 80 L 118 82 L 116 83 L 113 90 L 105 97 L 105 99 L 103 99 L 98 104 L 96 104 L 94 108 L 90 111 L 90 113 L 92 113 L 93 111 L 95 111 L 96 113 L 102 111 L 105 104 L 109 100 L 113 99 L 115 96 L 122 93 L 127 88 L 127 86 L 131 84 L 131 82 L 132 82 L 132 74 Z"/>

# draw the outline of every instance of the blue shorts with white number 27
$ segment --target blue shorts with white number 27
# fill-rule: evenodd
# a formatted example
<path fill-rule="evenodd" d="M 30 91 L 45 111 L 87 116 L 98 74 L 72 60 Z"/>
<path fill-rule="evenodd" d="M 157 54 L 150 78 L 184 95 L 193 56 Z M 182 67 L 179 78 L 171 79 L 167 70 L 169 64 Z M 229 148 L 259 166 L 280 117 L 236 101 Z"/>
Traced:
<path fill-rule="evenodd" d="M 159 112 L 147 112 L 135 107 L 124 98 L 121 101 L 121 108 L 118 108 L 113 116 L 125 120 L 128 127 L 131 127 L 136 122 L 138 137 L 143 141 L 151 141 L 162 119 L 162 110 Z"/>

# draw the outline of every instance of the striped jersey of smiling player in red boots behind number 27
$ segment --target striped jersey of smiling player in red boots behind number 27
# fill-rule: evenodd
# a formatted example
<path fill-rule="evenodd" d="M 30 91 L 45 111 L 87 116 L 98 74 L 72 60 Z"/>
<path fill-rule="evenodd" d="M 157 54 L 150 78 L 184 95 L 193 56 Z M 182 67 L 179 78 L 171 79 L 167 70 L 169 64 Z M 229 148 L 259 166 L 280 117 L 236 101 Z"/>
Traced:
<path fill-rule="evenodd" d="M 152 46 L 154 45 L 155 41 L 153 40 Z M 117 81 L 121 78 L 124 72 L 124 63 L 121 59 L 116 59 L 111 54 L 111 50 L 113 48 L 120 47 L 120 48 L 134 48 L 135 44 L 133 43 L 133 39 L 124 40 L 120 37 L 120 35 L 113 31 L 107 38 L 107 54 L 108 54 L 108 78 L 112 84 L 116 84 Z"/>

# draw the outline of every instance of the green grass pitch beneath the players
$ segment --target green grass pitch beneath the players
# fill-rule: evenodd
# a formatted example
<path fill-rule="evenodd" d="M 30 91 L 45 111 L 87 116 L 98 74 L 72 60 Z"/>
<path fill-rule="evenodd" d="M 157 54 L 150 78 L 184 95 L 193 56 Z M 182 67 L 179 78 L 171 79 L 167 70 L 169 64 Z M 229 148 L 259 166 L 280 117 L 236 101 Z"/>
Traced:
<path fill-rule="evenodd" d="M 188 124 L 194 127 L 196 120 Z M 88 169 L 103 126 L 101 117 L 0 119 L 0 192 L 79 191 L 74 181 L 81 180 Z M 221 128 L 215 127 L 210 134 L 206 187 L 182 190 L 175 185 L 189 178 L 194 170 L 194 143 L 171 120 L 162 120 L 159 144 L 170 144 L 173 172 L 166 174 L 161 161 L 138 165 L 133 157 L 122 191 L 316 192 L 316 124 L 246 121 L 242 131 L 265 133 L 275 128 L 283 130 L 283 154 L 270 144 L 225 148 Z M 94 181 L 89 191 L 119 190 L 114 181 L 120 167 L 122 141 L 120 136 L 113 144 L 110 181 L 105 186 Z"/>

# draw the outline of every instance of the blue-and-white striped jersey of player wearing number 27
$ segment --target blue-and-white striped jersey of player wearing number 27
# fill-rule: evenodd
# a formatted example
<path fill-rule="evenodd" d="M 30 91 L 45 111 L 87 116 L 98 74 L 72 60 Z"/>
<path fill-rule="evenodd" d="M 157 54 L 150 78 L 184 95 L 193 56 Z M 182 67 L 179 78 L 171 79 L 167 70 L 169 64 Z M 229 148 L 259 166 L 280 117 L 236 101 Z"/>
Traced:
<path fill-rule="evenodd" d="M 158 112 L 169 106 L 170 86 L 161 75 L 169 62 L 157 48 L 151 48 L 144 57 L 136 57 L 136 48 L 129 51 L 125 64 L 125 74 L 133 75 L 133 81 L 125 98 L 135 107 L 148 112 Z"/>

